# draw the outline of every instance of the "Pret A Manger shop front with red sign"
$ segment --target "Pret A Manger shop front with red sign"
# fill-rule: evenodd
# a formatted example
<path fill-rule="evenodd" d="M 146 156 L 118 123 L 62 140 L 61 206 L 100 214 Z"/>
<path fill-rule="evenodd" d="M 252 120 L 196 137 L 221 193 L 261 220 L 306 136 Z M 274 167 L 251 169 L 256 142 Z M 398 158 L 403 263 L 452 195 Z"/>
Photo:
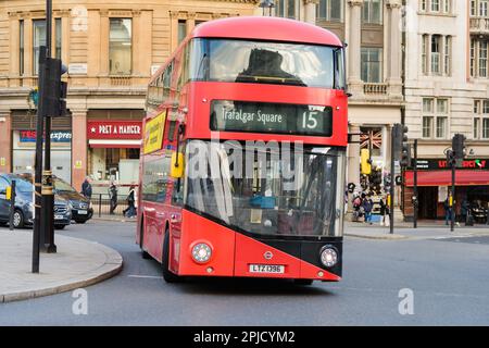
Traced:
<path fill-rule="evenodd" d="M 88 174 L 96 184 L 120 186 L 138 182 L 142 122 L 91 120 L 87 122 Z"/>

